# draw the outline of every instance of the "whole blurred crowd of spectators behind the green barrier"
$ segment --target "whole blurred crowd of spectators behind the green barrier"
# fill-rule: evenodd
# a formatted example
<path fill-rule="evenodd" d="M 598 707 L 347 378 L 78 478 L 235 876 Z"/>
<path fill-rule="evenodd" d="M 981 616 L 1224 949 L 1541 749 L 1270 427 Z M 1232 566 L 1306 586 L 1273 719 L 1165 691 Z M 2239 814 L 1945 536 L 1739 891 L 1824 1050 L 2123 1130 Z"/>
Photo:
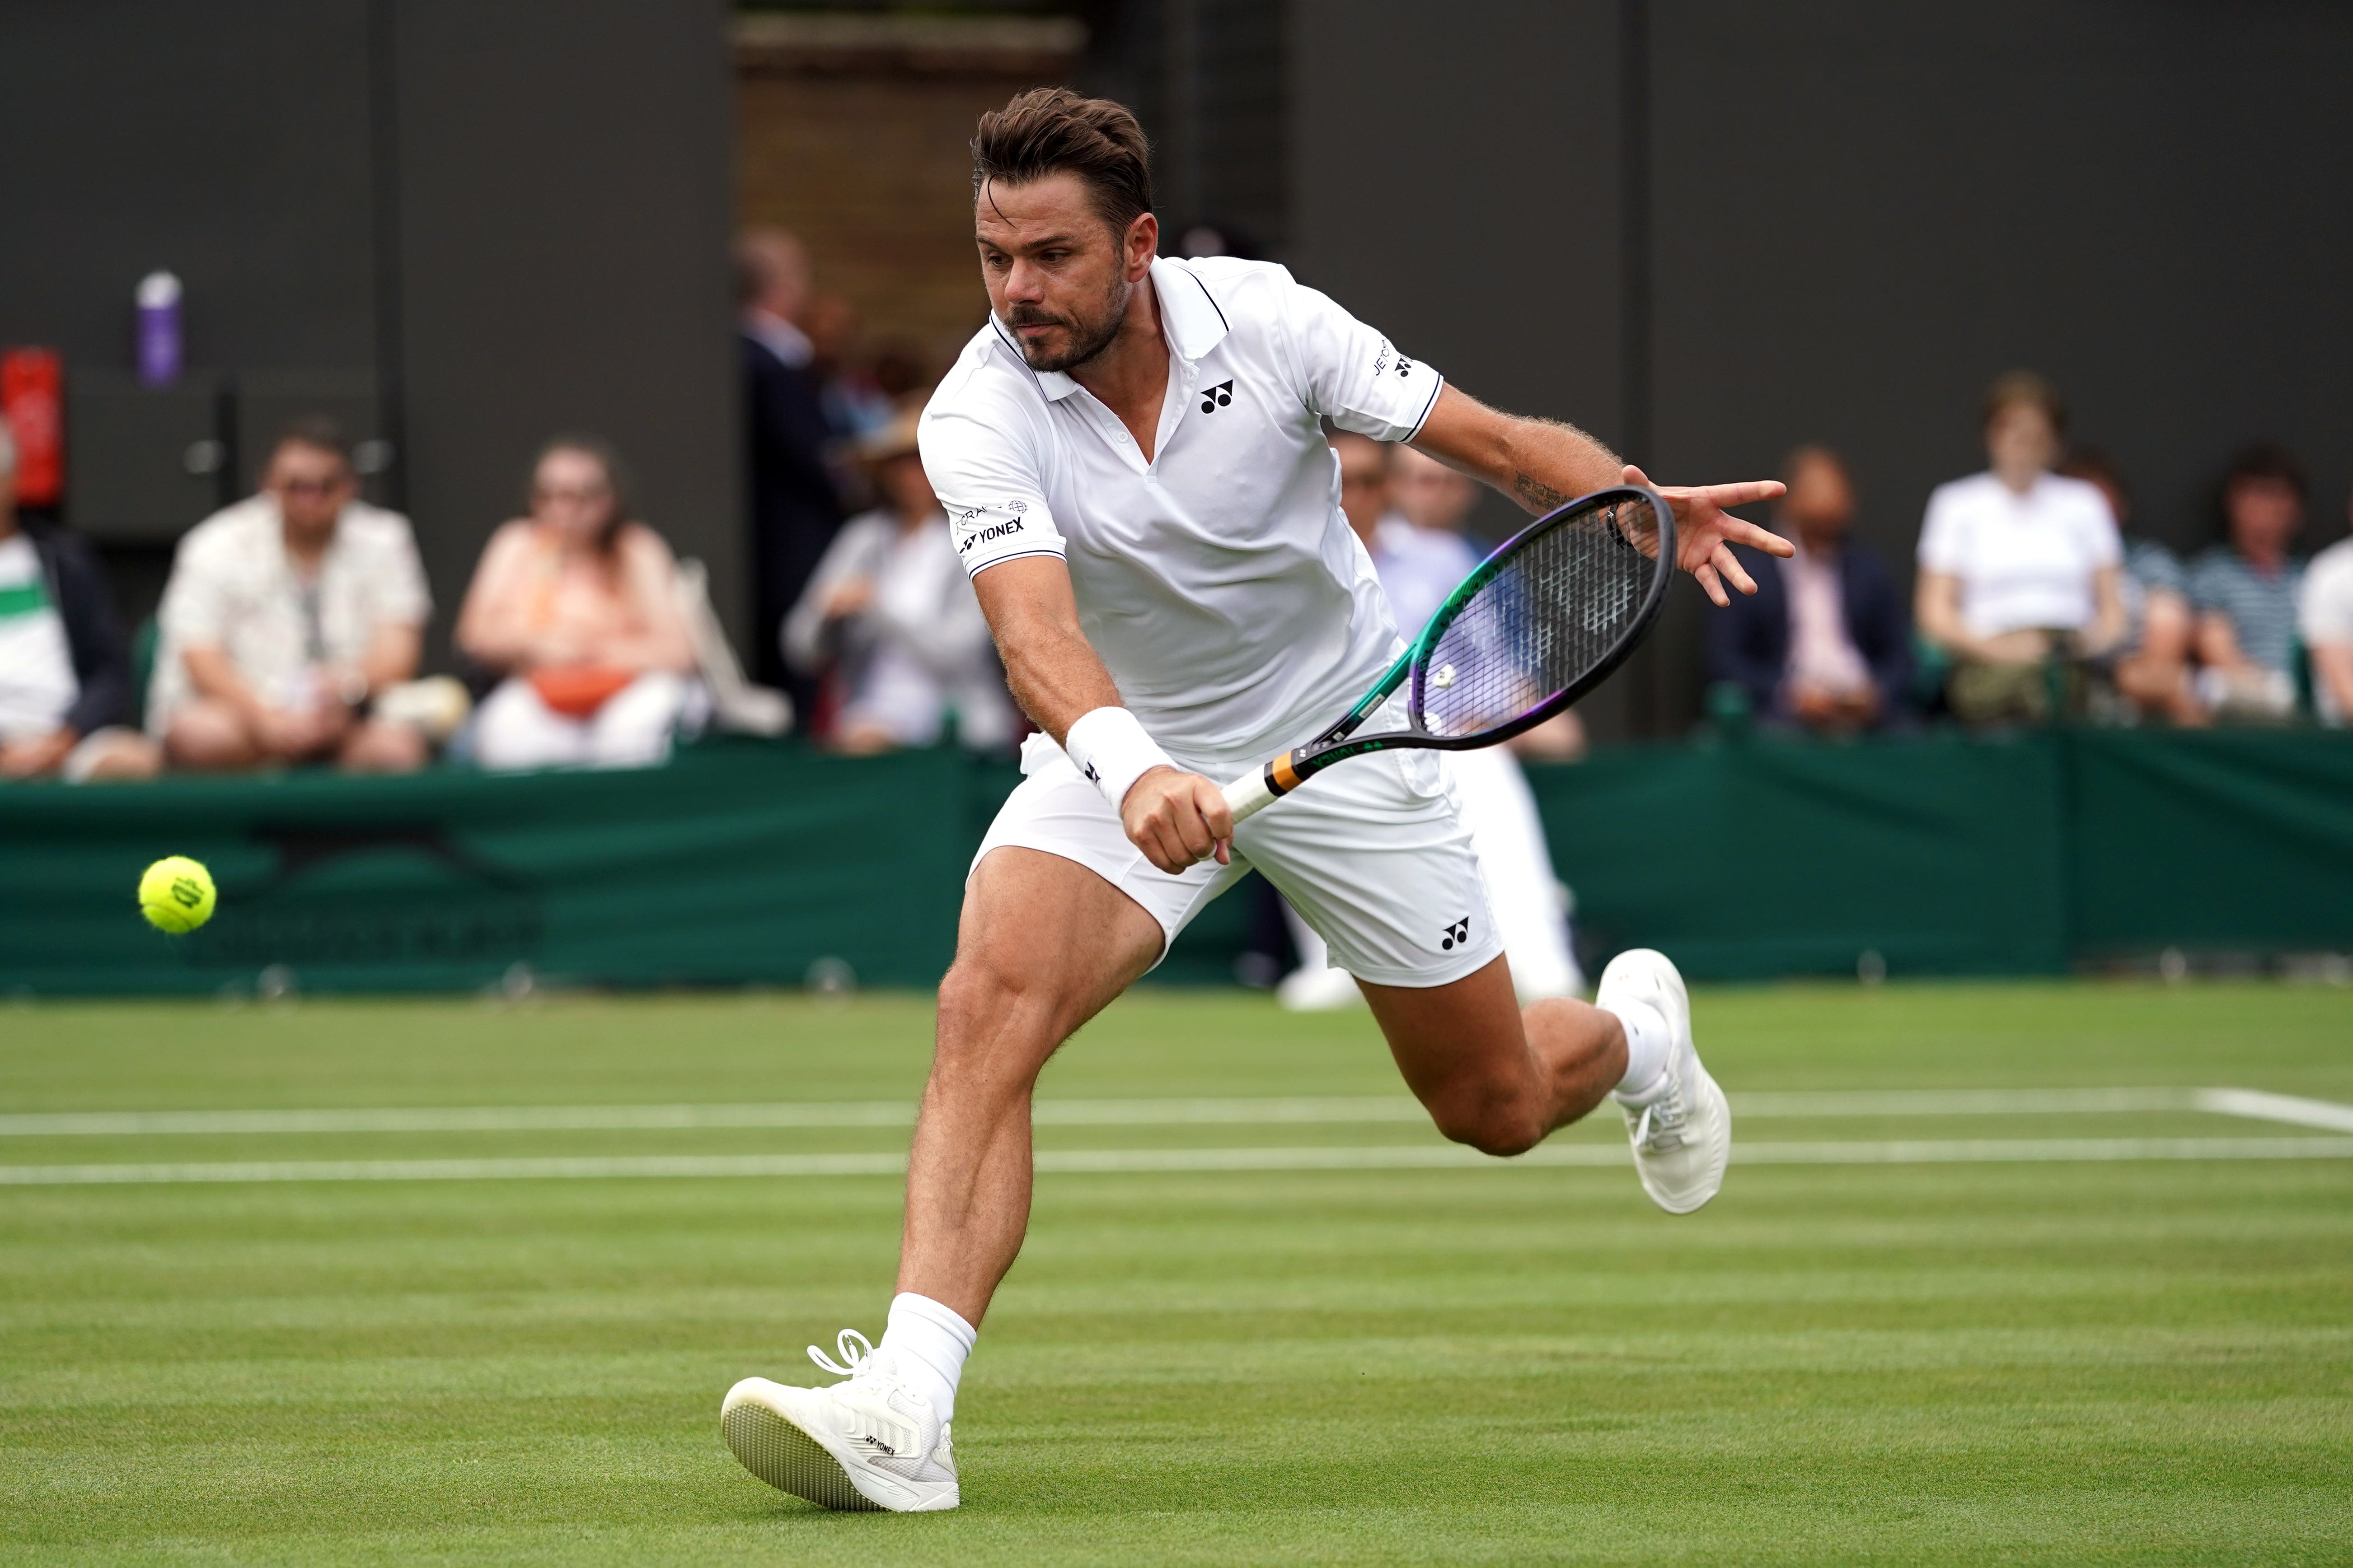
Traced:
<path fill-rule="evenodd" d="M 1009 752 L 1026 722 L 915 451 L 927 367 L 861 341 L 786 230 L 736 252 L 753 515 L 746 679 L 696 562 L 631 505 L 621 454 L 551 440 L 456 614 L 459 677 L 421 677 L 433 590 L 409 524 L 360 498 L 351 444 L 306 416 L 254 496 L 191 529 L 162 607 L 125 637 L 96 557 L 21 522 L 0 423 L 0 776 L 332 764 L 412 771 L 649 766 L 678 738 L 788 724 L 842 752 L 944 741 Z M 2031 371 L 1988 388 L 1986 468 L 1939 484 L 1906 602 L 1852 529 L 1840 454 L 1800 447 L 1758 583 L 1708 621 L 1715 724 L 1817 733 L 1927 724 L 2341 724 L 2353 712 L 2353 541 L 2297 552 L 2299 458 L 2240 451 L 2188 559 L 2132 531 L 2132 489 L 2068 444 Z M 1341 451 L 1344 508 L 1419 623 L 1475 562 L 1468 482 L 1412 454 Z M 1402 602 L 1412 599 L 1412 604 Z M 1522 741 L 1577 757 L 1574 715 Z"/>

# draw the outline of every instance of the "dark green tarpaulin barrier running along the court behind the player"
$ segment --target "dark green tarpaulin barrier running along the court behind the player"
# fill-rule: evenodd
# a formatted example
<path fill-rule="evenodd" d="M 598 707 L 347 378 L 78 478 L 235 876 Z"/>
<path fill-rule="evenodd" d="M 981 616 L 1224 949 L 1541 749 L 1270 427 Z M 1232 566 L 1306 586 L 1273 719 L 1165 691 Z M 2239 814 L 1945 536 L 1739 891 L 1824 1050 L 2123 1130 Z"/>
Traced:
<path fill-rule="evenodd" d="M 1588 957 L 1765 978 L 2353 950 L 2346 733 L 1755 736 L 1532 778 Z M 306 990 L 802 985 L 828 959 L 932 985 L 1012 785 L 953 750 L 725 741 L 633 773 L 0 788 L 0 990 L 249 990 L 268 966 Z M 132 905 L 165 853 L 221 884 L 186 938 Z M 1247 926 L 1219 900 L 1158 978 L 1231 978 Z"/>

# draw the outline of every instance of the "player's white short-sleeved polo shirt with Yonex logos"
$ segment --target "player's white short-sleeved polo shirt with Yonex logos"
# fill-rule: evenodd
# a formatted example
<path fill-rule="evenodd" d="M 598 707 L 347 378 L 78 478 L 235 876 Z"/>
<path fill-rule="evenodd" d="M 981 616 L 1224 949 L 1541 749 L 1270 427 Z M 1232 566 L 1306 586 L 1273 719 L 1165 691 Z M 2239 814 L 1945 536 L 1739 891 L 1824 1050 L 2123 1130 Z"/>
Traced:
<path fill-rule="evenodd" d="M 1151 463 L 991 317 L 922 411 L 922 465 L 967 571 L 1068 562 L 1120 701 L 1207 769 L 1311 741 L 1395 656 L 1320 421 L 1400 442 L 1440 376 L 1280 266 L 1162 259 L 1151 277 L 1169 343 Z"/>

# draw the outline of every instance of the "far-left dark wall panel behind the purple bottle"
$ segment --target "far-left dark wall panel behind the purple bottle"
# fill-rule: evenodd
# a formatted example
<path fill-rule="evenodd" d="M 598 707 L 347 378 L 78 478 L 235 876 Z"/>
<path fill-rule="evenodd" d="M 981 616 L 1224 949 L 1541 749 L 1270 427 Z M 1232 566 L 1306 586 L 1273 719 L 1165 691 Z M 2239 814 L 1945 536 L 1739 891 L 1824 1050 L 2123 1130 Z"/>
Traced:
<path fill-rule="evenodd" d="M 0 341 L 132 364 L 132 284 L 193 364 L 372 367 L 367 0 L 0 5 Z"/>

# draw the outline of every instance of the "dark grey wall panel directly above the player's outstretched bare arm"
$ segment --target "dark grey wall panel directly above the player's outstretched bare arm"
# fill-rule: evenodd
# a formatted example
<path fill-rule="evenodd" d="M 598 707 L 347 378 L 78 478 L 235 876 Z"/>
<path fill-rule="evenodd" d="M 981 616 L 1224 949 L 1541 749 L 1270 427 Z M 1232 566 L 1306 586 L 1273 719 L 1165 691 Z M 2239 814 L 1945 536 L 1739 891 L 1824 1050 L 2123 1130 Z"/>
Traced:
<path fill-rule="evenodd" d="M 1473 397 L 1624 444 L 1617 7 L 1294 5 L 1285 261 Z M 1520 520 L 1489 496 L 1478 527 Z M 1647 682 L 1588 722 L 1628 729 Z"/>

